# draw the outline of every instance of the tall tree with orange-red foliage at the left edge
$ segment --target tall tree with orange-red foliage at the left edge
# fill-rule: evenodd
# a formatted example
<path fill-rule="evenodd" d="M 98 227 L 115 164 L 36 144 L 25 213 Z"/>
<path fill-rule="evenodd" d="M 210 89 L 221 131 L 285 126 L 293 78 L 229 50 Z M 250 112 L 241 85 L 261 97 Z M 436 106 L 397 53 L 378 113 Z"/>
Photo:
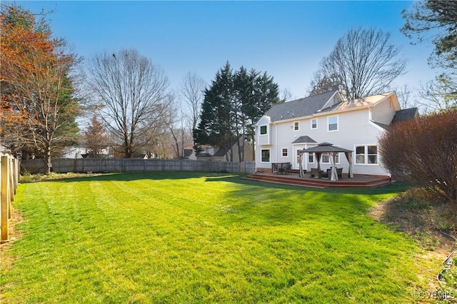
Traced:
<path fill-rule="evenodd" d="M 1 6 L 1 139 L 14 152 L 51 156 L 76 138 L 78 102 L 70 77 L 76 56 L 43 18 Z"/>

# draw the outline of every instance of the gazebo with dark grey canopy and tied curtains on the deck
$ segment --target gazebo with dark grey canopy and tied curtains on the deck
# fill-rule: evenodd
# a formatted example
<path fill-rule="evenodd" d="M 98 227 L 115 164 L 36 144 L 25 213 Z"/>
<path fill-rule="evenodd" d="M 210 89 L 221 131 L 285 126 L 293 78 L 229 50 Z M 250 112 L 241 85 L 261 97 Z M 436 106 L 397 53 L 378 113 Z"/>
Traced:
<path fill-rule="evenodd" d="M 301 151 L 300 156 L 303 155 L 303 153 L 315 153 L 316 158 L 317 158 L 317 170 L 321 171 L 321 156 L 322 153 L 328 153 L 330 156 L 330 162 L 331 162 L 331 181 L 338 181 L 338 174 L 336 173 L 336 166 L 335 166 L 335 155 L 336 153 L 343 152 L 346 155 L 346 158 L 349 162 L 349 169 L 348 169 L 348 178 L 353 178 L 353 173 L 352 173 L 352 151 L 345 149 L 345 148 L 339 148 L 333 146 L 331 143 L 319 143 L 318 146 L 312 147 L 312 148 L 307 148 L 303 149 Z M 303 170 L 302 170 L 302 164 L 301 164 L 301 159 L 300 159 L 300 176 L 303 177 Z"/>

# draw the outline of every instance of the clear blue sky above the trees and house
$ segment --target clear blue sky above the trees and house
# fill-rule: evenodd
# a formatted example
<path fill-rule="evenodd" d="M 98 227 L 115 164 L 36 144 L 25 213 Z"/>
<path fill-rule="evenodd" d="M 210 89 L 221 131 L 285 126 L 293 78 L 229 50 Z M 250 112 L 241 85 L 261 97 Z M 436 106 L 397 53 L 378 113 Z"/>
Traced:
<path fill-rule="evenodd" d="M 207 83 L 229 61 L 233 69 L 266 71 L 293 97 L 306 96 L 318 63 L 353 27 L 392 34 L 408 60 L 398 86 L 418 88 L 436 71 L 427 65 L 432 46 L 411 46 L 400 33 L 401 10 L 412 1 L 16 1 L 49 15 L 54 36 L 74 52 L 137 49 L 161 66 L 171 88 L 188 72 Z"/>

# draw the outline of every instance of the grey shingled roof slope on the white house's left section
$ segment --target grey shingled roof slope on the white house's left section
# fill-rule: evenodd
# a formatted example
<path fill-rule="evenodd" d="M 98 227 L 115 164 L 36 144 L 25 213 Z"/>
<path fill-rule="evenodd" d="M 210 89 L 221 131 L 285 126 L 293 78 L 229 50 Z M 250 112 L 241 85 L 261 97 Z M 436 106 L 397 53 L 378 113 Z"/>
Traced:
<path fill-rule="evenodd" d="M 282 121 L 304 116 L 311 116 L 318 110 L 321 110 L 326 105 L 328 100 L 332 98 L 338 91 L 330 91 L 305 98 L 288 101 L 286 103 L 278 103 L 271 107 L 265 116 L 269 116 L 271 121 Z"/>

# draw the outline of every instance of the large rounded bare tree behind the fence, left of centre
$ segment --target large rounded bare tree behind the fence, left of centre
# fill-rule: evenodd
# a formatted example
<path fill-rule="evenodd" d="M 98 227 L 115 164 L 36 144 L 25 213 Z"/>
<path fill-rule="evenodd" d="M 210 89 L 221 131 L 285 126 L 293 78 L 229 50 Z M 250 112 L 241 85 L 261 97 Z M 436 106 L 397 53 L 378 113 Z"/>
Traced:
<path fill-rule="evenodd" d="M 149 59 L 134 49 L 99 54 L 90 61 L 88 81 L 95 98 L 103 105 L 106 128 L 131 158 L 139 138 L 161 122 L 168 78 Z"/>

